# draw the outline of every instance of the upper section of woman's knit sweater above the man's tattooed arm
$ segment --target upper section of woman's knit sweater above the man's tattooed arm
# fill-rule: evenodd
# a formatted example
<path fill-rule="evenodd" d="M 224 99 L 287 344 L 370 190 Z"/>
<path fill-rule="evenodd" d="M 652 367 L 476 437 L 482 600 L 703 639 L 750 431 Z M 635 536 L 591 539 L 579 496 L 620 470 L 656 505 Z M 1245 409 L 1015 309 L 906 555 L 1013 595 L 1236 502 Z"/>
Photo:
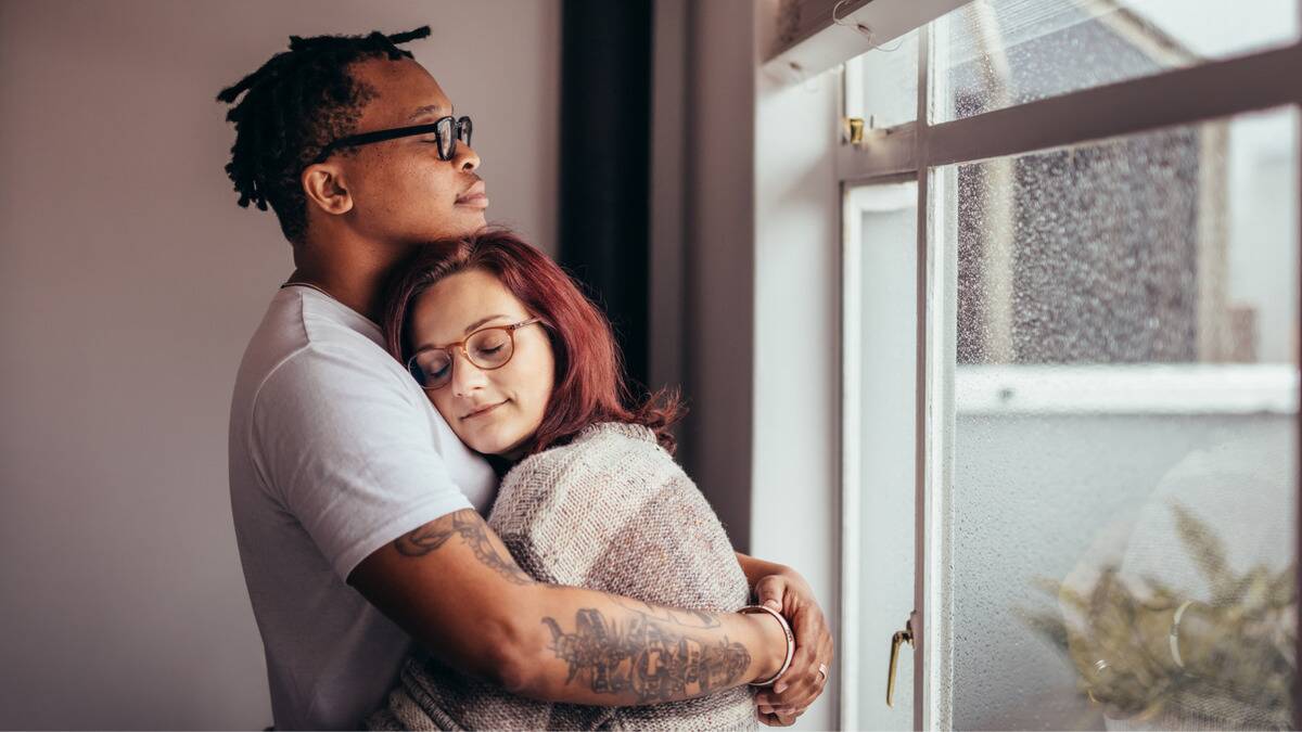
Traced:
<path fill-rule="evenodd" d="M 654 442 L 611 430 L 535 457 L 508 475 L 490 517 L 526 572 L 672 607 L 746 603 L 717 516 Z"/>

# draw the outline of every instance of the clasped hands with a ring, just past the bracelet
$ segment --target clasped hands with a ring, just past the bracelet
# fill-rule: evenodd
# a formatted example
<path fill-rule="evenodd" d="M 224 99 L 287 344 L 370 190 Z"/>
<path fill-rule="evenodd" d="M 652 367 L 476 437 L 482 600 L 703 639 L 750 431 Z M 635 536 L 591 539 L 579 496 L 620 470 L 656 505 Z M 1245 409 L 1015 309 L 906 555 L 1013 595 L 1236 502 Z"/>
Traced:
<path fill-rule="evenodd" d="M 823 693 L 831 673 L 833 642 L 814 590 L 789 567 L 755 582 L 755 600 L 783 613 L 796 633 L 792 666 L 772 689 L 755 696 L 759 719 L 769 727 L 789 727 Z M 823 667 L 827 673 L 820 672 Z"/>

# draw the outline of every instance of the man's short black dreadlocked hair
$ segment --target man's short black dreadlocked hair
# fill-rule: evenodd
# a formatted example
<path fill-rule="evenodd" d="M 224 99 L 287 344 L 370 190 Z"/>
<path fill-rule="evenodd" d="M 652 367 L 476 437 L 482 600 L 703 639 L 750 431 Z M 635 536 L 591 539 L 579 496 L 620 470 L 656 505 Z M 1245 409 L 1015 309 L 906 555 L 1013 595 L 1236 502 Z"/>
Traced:
<path fill-rule="evenodd" d="M 430 35 L 430 26 L 384 35 L 289 36 L 289 51 L 271 57 L 256 72 L 217 94 L 217 102 L 233 104 L 227 121 L 236 125 L 227 175 L 240 193 L 240 206 L 276 211 L 285 238 L 301 241 L 307 231 L 307 198 L 298 182 L 303 168 L 315 162 L 332 139 L 355 132 L 362 106 L 375 89 L 358 82 L 349 66 L 358 61 L 388 57 L 410 59 L 398 48 Z"/>

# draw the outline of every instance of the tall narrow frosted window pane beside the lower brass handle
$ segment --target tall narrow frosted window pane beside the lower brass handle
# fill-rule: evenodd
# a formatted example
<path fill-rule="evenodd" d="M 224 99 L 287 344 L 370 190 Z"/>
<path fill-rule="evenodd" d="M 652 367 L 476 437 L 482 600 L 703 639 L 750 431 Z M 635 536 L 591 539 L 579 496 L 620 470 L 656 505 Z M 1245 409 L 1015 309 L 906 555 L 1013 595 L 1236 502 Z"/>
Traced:
<path fill-rule="evenodd" d="M 913 610 L 914 389 L 917 380 L 918 185 L 854 188 L 845 197 L 846 508 L 857 517 L 849 537 L 842 621 L 852 658 L 846 693 L 850 729 L 913 728 L 913 653 L 897 669 L 894 707 L 884 702 L 891 636 Z M 858 504 L 853 507 L 853 504 Z M 857 551 L 855 551 L 857 550 Z"/>

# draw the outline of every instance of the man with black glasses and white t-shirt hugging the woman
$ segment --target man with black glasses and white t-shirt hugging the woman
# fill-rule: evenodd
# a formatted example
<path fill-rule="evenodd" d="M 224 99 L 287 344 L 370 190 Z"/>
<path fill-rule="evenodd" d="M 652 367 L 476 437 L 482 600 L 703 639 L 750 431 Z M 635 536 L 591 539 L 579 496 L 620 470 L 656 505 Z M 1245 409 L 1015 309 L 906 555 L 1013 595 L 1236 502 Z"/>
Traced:
<path fill-rule="evenodd" d="M 397 48 L 426 35 L 292 38 L 217 96 L 243 95 L 228 113 L 240 203 L 275 210 L 296 263 L 249 344 L 230 414 L 232 511 L 276 727 L 357 727 L 413 638 L 453 668 L 544 701 L 707 692 L 689 681 L 639 698 L 599 684 L 595 663 L 572 667 L 552 646 L 549 624 L 575 632 L 581 613 L 740 649 L 728 686 L 772 676 L 785 658 L 773 619 L 529 578 L 480 517 L 492 472 L 384 352 L 375 322 L 385 274 L 421 242 L 484 225 L 488 206 L 469 120 Z M 766 722 L 790 724 L 822 692 L 832 642 L 798 574 L 738 560 L 758 600 L 797 632 L 792 668 L 759 697 Z M 596 640 L 592 651 L 621 641 Z M 704 658 L 674 662 L 686 679 L 719 677 Z"/>

